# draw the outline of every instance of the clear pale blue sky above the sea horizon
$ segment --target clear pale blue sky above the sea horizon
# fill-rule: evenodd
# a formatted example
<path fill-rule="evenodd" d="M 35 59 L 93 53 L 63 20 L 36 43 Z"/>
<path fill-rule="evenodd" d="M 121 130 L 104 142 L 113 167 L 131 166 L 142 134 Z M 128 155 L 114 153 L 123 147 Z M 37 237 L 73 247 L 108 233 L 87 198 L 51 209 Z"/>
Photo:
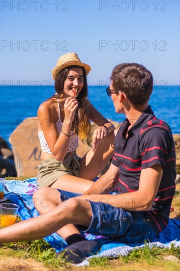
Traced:
<path fill-rule="evenodd" d="M 157 84 L 180 84 L 179 0 L 0 4 L 1 84 L 53 84 L 51 70 L 68 52 L 91 66 L 89 85 L 108 84 L 112 68 L 122 62 L 143 64 Z"/>

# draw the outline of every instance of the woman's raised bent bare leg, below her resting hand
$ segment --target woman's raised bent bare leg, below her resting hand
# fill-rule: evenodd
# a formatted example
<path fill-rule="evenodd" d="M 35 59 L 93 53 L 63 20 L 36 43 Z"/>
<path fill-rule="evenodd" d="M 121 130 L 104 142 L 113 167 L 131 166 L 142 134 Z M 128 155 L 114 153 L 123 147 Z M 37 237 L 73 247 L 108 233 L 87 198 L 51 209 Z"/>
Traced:
<path fill-rule="evenodd" d="M 93 180 L 105 168 L 114 153 L 114 140 L 117 130 L 101 142 L 95 152 L 91 148 L 80 161 L 79 177 Z"/>

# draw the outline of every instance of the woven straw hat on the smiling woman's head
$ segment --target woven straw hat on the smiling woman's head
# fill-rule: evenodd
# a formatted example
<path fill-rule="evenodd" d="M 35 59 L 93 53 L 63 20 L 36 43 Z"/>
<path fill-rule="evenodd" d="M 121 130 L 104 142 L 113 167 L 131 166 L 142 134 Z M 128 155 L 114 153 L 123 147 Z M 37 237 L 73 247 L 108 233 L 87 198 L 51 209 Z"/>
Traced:
<path fill-rule="evenodd" d="M 91 70 L 89 65 L 81 62 L 81 60 L 79 59 L 76 53 L 68 53 L 61 56 L 57 62 L 57 66 L 52 69 L 53 79 L 54 80 L 56 79 L 56 76 L 61 71 L 61 69 L 72 66 L 72 65 L 84 67 L 86 70 L 86 75 L 88 75 L 88 73 Z"/>

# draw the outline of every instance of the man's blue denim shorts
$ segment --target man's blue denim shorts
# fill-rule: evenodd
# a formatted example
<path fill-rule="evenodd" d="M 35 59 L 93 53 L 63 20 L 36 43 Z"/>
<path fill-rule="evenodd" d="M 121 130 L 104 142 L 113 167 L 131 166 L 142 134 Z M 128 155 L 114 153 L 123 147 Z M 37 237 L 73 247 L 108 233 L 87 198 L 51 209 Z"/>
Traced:
<path fill-rule="evenodd" d="M 59 190 L 59 189 L 58 189 Z M 61 201 L 81 196 L 81 194 L 59 190 Z M 143 211 L 126 211 L 108 203 L 90 202 L 92 220 L 85 232 L 102 235 L 129 244 L 152 241 L 158 235 Z M 84 227 L 83 227 L 84 229 Z"/>

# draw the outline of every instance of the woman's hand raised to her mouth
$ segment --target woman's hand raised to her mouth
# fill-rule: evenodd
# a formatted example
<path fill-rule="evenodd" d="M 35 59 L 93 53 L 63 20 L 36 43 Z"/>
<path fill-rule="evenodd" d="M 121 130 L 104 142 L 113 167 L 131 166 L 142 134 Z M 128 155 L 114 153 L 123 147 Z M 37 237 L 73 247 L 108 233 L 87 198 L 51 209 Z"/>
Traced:
<path fill-rule="evenodd" d="M 79 102 L 73 97 L 68 97 L 64 102 L 64 120 L 72 122 Z"/>

